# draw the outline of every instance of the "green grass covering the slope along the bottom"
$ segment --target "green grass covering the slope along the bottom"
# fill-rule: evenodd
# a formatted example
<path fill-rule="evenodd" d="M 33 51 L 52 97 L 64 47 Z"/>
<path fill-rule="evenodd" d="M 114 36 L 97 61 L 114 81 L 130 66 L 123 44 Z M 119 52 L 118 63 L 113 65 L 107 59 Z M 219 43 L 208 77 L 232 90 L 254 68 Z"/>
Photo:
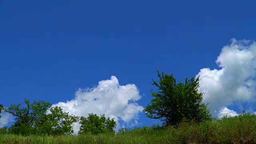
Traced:
<path fill-rule="evenodd" d="M 120 134 L 79 136 L 0 135 L 1 144 L 255 144 L 256 115 L 225 117 L 221 120 L 191 124 L 181 122 L 178 128 L 154 125 L 134 128 Z"/>

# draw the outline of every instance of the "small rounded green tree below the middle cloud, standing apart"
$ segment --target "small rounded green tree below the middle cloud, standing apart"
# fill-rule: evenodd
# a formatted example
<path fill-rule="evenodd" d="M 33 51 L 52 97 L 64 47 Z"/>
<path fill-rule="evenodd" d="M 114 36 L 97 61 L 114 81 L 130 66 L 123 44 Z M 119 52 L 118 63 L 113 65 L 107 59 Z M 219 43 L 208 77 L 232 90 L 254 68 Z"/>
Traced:
<path fill-rule="evenodd" d="M 79 124 L 81 124 L 81 126 L 78 134 L 99 134 L 106 132 L 114 133 L 114 128 L 116 127 L 114 118 L 110 120 L 110 118 L 106 119 L 104 114 L 97 116 L 93 113 L 89 114 L 88 118 L 81 116 Z"/>

